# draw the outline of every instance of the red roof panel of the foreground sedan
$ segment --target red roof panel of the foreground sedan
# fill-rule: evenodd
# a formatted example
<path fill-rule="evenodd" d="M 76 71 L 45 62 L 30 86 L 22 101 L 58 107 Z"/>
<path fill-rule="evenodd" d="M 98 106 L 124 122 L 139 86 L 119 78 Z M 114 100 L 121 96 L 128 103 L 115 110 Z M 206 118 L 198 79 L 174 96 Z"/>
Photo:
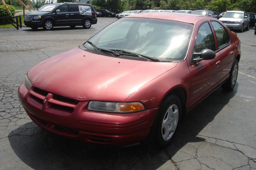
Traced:
<path fill-rule="evenodd" d="M 152 18 L 152 19 L 161 19 L 161 20 L 171 20 L 179 22 L 187 22 L 191 24 L 196 24 L 198 21 L 204 18 L 214 19 L 208 16 L 201 15 L 191 15 L 187 13 L 178 13 L 178 12 L 150 12 L 150 13 L 140 13 L 137 15 L 126 16 L 125 18 Z"/>

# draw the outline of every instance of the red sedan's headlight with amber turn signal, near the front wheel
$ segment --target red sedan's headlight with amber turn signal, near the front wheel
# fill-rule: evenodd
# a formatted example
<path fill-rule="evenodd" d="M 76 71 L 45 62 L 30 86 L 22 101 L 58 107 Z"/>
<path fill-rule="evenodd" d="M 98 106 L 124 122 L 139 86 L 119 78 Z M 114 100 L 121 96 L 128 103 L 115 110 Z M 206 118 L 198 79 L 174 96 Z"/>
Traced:
<path fill-rule="evenodd" d="M 119 113 L 132 113 L 145 110 L 142 103 L 117 103 L 117 102 L 103 102 L 103 101 L 90 101 L 88 110 L 91 111 L 104 111 L 104 112 L 119 112 Z"/>

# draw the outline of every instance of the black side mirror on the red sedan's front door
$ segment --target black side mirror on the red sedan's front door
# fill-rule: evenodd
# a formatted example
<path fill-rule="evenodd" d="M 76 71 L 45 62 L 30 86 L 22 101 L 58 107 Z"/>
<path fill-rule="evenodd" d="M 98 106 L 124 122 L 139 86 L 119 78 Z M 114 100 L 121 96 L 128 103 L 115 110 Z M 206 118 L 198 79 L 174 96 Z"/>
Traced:
<path fill-rule="evenodd" d="M 192 64 L 196 64 L 202 60 L 209 60 L 215 58 L 215 52 L 211 49 L 202 49 L 200 53 L 193 53 L 192 55 Z"/>

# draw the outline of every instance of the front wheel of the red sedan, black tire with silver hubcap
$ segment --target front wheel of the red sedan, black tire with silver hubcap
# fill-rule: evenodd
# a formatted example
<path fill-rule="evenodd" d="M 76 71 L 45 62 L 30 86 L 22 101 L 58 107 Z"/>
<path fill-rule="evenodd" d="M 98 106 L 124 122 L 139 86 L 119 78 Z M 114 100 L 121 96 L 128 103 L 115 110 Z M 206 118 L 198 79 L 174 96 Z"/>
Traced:
<path fill-rule="evenodd" d="M 181 103 L 176 95 L 170 95 L 160 105 L 149 139 L 156 148 L 167 147 L 174 138 L 181 120 Z"/>

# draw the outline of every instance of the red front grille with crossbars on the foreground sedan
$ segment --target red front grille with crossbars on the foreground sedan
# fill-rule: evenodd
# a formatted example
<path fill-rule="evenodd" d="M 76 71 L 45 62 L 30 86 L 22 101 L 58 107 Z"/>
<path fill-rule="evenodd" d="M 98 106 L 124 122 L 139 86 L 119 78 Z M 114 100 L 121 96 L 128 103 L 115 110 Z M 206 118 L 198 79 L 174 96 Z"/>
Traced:
<path fill-rule="evenodd" d="M 38 109 L 61 115 L 70 115 L 79 103 L 77 100 L 52 94 L 36 87 L 31 88 L 27 100 Z"/>

